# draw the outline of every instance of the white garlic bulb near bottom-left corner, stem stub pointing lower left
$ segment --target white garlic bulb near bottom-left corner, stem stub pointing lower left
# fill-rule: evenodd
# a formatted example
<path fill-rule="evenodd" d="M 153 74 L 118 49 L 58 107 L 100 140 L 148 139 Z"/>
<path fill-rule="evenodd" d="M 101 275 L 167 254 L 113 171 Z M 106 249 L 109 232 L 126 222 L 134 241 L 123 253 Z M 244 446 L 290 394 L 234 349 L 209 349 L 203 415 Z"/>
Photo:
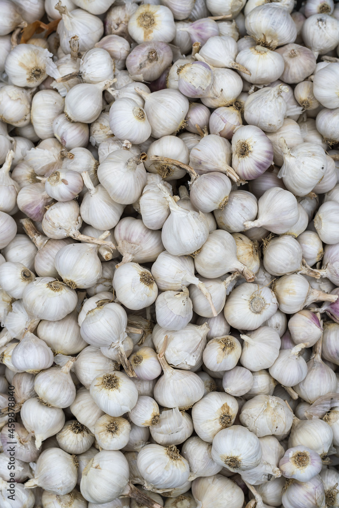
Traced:
<path fill-rule="evenodd" d="M 67 494 L 77 483 L 77 461 L 59 448 L 49 448 L 37 460 L 35 477 L 25 483 L 25 488 L 42 487 L 54 494 Z"/>

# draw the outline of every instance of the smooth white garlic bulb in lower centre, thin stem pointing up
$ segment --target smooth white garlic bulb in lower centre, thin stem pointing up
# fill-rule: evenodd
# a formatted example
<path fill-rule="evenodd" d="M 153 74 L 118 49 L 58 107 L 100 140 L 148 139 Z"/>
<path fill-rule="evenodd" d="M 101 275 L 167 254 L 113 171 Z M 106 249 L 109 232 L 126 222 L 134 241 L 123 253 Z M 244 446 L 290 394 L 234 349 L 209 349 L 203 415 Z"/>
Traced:
<path fill-rule="evenodd" d="M 154 398 L 164 407 L 191 407 L 204 394 L 199 376 L 189 370 L 173 369 L 165 358 L 158 356 L 163 375 L 154 387 Z"/>

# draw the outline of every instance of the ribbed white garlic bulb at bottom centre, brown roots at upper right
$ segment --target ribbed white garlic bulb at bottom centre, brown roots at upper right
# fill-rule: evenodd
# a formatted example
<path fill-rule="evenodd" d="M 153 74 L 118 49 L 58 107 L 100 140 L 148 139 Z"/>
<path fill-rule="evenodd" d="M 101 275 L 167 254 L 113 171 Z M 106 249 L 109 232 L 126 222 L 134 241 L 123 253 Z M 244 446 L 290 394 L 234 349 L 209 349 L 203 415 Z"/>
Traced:
<path fill-rule="evenodd" d="M 145 486 L 157 489 L 179 487 L 187 482 L 190 466 L 171 444 L 147 444 L 139 453 L 137 466 L 145 480 Z"/>

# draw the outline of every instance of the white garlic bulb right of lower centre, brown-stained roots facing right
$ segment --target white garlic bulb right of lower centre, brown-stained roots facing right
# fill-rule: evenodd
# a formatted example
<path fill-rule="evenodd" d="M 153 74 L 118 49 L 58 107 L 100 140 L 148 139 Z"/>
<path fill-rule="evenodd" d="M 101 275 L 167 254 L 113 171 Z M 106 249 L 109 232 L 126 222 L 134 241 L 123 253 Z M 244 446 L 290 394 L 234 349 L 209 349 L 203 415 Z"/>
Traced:
<path fill-rule="evenodd" d="M 192 407 L 194 430 L 206 442 L 212 442 L 214 436 L 233 425 L 238 412 L 238 403 L 227 393 L 210 392 Z"/>

